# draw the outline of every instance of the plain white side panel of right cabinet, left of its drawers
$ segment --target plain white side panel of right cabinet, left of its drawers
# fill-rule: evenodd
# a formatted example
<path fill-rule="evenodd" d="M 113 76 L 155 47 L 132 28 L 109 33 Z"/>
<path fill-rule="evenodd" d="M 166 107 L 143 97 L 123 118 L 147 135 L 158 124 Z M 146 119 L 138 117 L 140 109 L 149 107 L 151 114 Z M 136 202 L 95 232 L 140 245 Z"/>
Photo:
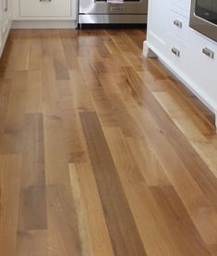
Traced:
<path fill-rule="evenodd" d="M 150 0 L 148 42 L 159 52 L 165 52 L 168 0 Z"/>

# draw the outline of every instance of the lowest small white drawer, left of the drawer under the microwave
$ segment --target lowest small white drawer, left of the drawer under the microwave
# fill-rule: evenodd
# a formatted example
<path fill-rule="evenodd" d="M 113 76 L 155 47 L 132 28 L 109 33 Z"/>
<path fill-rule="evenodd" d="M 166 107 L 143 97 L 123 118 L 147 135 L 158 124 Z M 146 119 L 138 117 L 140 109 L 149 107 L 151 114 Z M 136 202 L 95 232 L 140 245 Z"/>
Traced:
<path fill-rule="evenodd" d="M 187 71 L 187 48 L 185 46 L 171 37 L 167 44 L 167 54 L 176 69 Z"/>

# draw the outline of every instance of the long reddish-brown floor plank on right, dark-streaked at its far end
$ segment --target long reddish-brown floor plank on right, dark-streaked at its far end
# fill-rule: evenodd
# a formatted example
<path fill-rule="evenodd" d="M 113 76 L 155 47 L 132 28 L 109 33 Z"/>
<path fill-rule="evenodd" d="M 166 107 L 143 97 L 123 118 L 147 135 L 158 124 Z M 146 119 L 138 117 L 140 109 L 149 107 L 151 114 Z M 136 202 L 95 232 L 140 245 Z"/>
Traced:
<path fill-rule="evenodd" d="M 213 179 L 213 174 L 208 166 L 201 160 L 199 154 L 190 145 L 189 141 L 187 141 L 185 135 L 182 134 L 154 96 L 151 95 L 151 92 L 144 86 L 145 84 L 141 82 L 136 72 L 131 68 L 125 68 L 125 70 L 127 79 L 131 84 L 130 86 L 132 86 L 139 100 L 143 102 L 143 107 L 151 113 L 154 120 L 161 127 L 162 133 L 167 137 L 170 144 L 173 145 L 175 151 L 187 167 L 190 175 L 196 180 L 200 189 L 211 202 L 215 204 L 217 181 Z M 145 115 L 146 111 L 144 111 L 143 116 L 145 117 Z"/>

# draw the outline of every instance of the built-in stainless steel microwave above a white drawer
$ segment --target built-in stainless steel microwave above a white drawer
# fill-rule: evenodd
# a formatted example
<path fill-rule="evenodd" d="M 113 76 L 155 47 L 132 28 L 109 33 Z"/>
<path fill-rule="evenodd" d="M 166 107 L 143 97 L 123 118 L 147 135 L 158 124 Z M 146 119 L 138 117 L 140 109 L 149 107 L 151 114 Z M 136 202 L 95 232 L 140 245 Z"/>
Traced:
<path fill-rule="evenodd" d="M 190 27 L 217 41 L 217 0 L 191 0 Z"/>

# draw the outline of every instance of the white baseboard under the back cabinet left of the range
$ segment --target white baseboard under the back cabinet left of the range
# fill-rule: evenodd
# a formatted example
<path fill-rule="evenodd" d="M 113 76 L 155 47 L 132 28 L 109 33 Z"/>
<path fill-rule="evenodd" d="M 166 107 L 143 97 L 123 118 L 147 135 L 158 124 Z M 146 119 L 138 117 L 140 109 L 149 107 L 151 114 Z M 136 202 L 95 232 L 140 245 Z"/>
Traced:
<path fill-rule="evenodd" d="M 12 29 L 75 29 L 76 20 L 14 20 Z"/>

